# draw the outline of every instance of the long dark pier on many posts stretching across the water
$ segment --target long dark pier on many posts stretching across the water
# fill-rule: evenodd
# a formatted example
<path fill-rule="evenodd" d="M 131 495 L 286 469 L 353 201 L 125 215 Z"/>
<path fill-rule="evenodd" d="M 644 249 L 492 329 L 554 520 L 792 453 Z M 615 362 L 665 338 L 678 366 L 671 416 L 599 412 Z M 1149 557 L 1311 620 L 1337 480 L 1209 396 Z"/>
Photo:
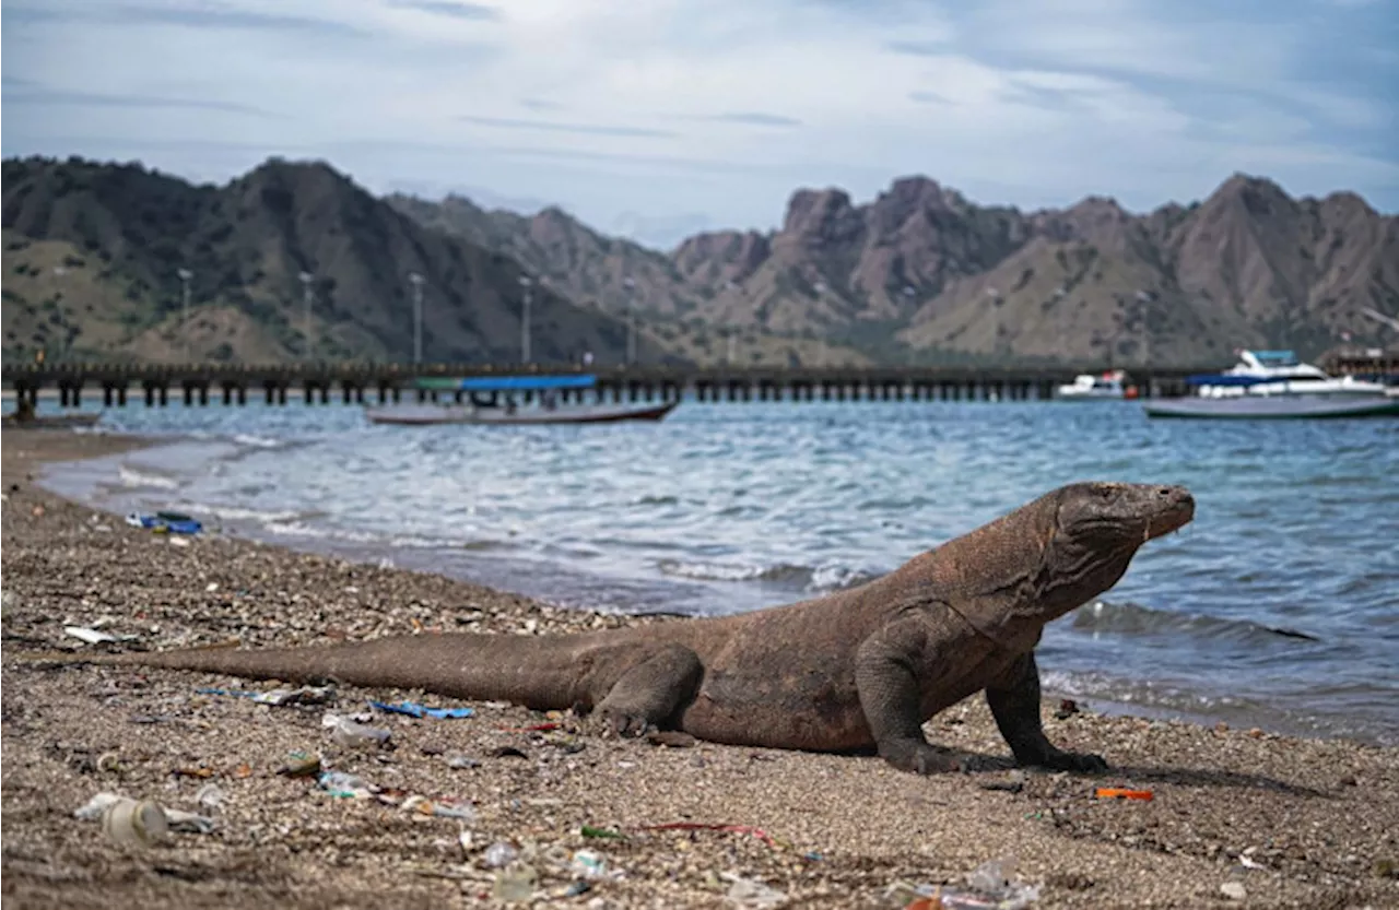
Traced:
<path fill-rule="evenodd" d="M 687 394 L 698 401 L 1028 401 L 1053 397 L 1055 387 L 1079 373 L 1101 373 L 1104 365 L 1063 368 L 1004 366 L 887 366 L 887 368 L 592 368 L 597 377 L 588 390 L 568 390 L 565 400 L 672 401 Z M 1185 376 L 1219 365 L 1128 370 L 1126 384 L 1137 394 L 1178 394 Z M 15 398 L 38 401 L 57 393 L 62 407 L 101 400 L 104 407 L 385 404 L 403 400 L 460 400 L 462 393 L 417 389 L 420 376 L 498 376 L 519 373 L 585 372 L 540 365 L 480 363 L 299 363 L 299 365 L 151 365 L 151 363 L 0 363 L 0 389 Z M 527 400 L 527 398 L 526 398 Z"/>

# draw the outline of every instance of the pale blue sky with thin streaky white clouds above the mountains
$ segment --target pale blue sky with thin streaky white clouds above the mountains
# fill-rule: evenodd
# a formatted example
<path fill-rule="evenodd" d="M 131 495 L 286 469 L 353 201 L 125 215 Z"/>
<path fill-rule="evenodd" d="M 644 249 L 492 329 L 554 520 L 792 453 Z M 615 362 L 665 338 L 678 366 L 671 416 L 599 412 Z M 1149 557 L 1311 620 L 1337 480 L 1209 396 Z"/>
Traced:
<path fill-rule="evenodd" d="M 0 154 L 557 203 L 669 245 L 925 173 L 1399 210 L 1399 0 L 0 0 Z"/>

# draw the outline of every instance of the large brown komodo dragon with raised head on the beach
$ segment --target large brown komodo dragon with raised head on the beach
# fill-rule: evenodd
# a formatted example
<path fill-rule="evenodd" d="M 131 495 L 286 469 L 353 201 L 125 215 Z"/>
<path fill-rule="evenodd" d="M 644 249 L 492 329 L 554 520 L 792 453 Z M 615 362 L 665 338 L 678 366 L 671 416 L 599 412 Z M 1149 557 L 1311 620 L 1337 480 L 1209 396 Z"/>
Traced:
<path fill-rule="evenodd" d="M 733 745 L 873 746 L 923 774 L 965 766 L 930 745 L 922 724 L 985 689 L 1017 763 L 1098 772 L 1102 758 L 1045 737 L 1034 649 L 1046 622 L 1112 587 L 1143 542 L 1193 516 L 1181 486 L 1072 484 L 880 579 L 748 614 L 543 637 L 414 635 L 62 660 L 575 707 L 621 735 L 655 725 Z"/>

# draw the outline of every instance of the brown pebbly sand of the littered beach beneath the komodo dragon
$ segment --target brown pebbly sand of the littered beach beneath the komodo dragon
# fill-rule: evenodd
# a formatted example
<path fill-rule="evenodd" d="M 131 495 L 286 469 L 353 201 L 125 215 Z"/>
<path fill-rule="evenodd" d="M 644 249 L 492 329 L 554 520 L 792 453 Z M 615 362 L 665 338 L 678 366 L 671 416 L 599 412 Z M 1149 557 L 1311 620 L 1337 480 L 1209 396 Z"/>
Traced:
<path fill-rule="evenodd" d="M 926 779 L 877 758 L 617 741 L 567 714 L 491 703 L 452 720 L 374 712 L 393 748 L 354 748 L 332 739 L 326 712 L 367 710 L 371 698 L 462 703 L 347 688 L 333 705 L 278 707 L 196 692 L 274 684 L 21 664 L 22 653 L 116 647 L 66 636 L 70 623 L 159 649 L 638 622 L 217 533 L 178 545 L 32 481 L 41 461 L 137 445 L 0 433 L 6 910 L 476 906 L 495 902 L 497 843 L 522 855 L 508 874 L 533 869 L 541 906 L 720 907 L 743 906 L 743 893 L 748 906 L 907 906 L 911 888 L 965 888 L 989 860 L 1014 860 L 1011 878 L 1038 889 L 1035 907 L 1399 906 L 1399 749 L 1109 717 L 1091 705 L 1059 718 L 1046 702 L 1049 737 L 1102 753 L 1112 770 L 1020 773 L 981 698 L 928 732 L 985 770 Z M 525 730 L 541 723 L 558 727 Z M 386 788 L 388 802 L 278 774 L 295 751 Z M 214 808 L 197 800 L 210 784 Z M 1154 798 L 1097 800 L 1101 786 Z M 74 818 L 101 791 L 204 812 L 217 828 L 118 844 L 101 822 Z M 389 804 L 406 794 L 462 800 L 473 818 Z M 768 839 L 645 828 L 669 822 Z M 585 825 L 625 837 L 585 837 Z M 602 875 L 589 876 L 578 851 L 596 854 Z"/>

